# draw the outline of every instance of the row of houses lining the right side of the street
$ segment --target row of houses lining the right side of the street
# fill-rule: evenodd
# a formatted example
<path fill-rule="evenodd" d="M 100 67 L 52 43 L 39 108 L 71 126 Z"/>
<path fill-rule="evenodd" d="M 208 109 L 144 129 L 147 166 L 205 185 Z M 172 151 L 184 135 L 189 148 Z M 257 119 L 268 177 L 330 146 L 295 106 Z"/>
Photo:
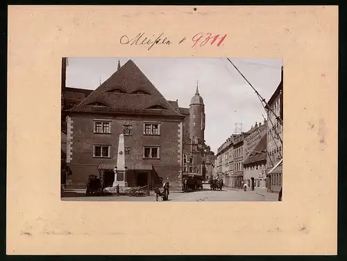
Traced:
<path fill-rule="evenodd" d="M 217 150 L 213 176 L 230 188 L 246 183 L 252 190 L 279 192 L 282 187 L 283 76 L 265 109 L 266 120 L 232 134 Z"/>

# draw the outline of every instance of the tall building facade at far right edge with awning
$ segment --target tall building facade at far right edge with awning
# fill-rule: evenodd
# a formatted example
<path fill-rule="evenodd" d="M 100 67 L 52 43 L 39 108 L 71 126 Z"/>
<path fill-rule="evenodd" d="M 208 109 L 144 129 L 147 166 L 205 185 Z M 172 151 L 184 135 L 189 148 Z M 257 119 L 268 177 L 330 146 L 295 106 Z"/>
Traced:
<path fill-rule="evenodd" d="M 283 68 L 278 88 L 273 93 L 267 111 L 266 185 L 269 192 L 279 192 L 282 187 L 283 157 Z"/>

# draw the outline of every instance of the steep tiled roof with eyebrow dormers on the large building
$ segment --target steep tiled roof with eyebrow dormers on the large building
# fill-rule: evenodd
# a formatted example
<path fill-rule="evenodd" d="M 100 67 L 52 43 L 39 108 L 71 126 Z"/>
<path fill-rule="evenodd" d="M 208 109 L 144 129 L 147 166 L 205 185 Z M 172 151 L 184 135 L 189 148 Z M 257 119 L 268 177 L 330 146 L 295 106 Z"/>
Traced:
<path fill-rule="evenodd" d="M 99 106 L 95 106 L 95 104 L 99 104 Z M 166 109 L 150 109 L 157 106 Z M 134 112 L 137 114 L 183 116 L 171 107 L 169 102 L 132 60 L 128 60 L 108 80 L 105 80 L 103 84 L 70 111 L 112 114 Z"/>

